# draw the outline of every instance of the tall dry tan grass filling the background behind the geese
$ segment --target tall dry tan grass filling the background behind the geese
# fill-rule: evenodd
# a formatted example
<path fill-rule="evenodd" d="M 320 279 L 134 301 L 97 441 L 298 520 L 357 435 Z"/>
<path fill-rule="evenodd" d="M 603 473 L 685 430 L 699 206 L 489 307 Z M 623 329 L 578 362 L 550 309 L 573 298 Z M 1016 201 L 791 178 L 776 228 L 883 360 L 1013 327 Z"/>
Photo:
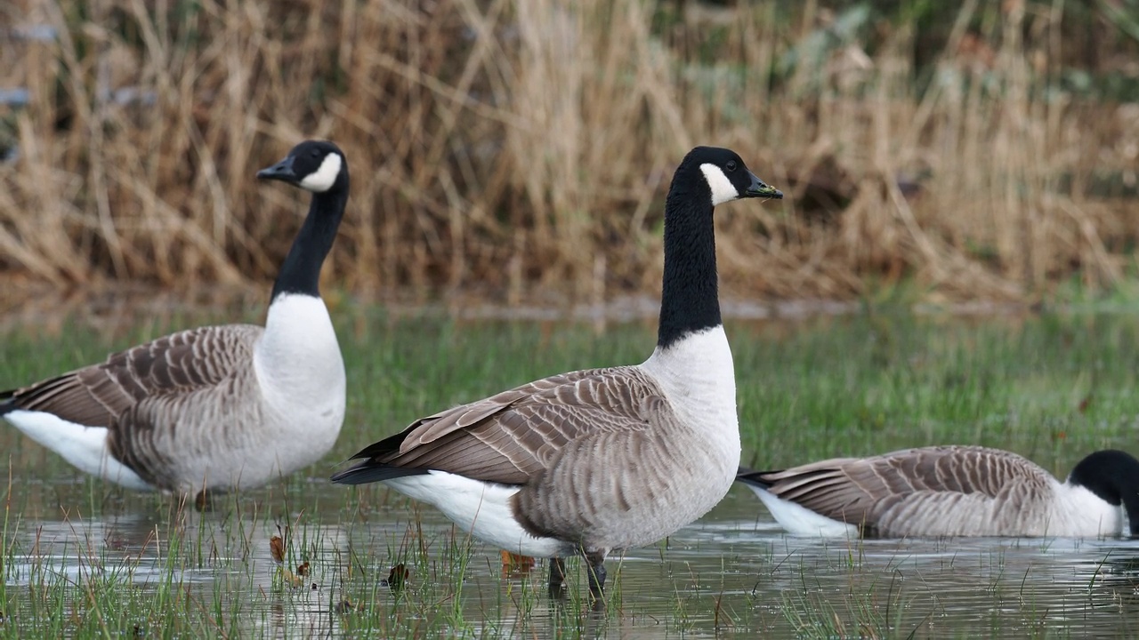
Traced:
<path fill-rule="evenodd" d="M 1002 7 L 978 30 L 962 5 L 919 91 L 912 28 L 803 56 L 830 19 L 813 2 L 17 0 L 11 24 L 58 38 L 0 46 L 0 85 L 31 93 L 0 112 L 21 154 L 0 165 L 0 273 L 264 282 L 304 198 L 253 175 L 322 137 L 353 172 L 326 281 L 364 295 L 655 290 L 696 143 L 788 191 L 719 215 L 736 294 L 1117 285 L 1130 203 L 1089 183 L 1136 170 L 1139 108 L 1055 89 L 1060 5 Z"/>

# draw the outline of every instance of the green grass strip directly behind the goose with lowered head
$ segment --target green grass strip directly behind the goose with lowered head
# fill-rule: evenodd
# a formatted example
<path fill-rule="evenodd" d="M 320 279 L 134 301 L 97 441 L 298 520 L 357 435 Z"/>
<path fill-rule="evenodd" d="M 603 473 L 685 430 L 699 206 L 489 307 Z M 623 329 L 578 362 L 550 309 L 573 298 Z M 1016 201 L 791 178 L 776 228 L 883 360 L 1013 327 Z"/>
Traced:
<path fill-rule="evenodd" d="M 734 340 L 752 346 L 735 352 L 744 458 L 761 467 L 970 443 L 1063 474 L 1091 450 L 1128 449 L 1139 415 L 1129 315 L 837 318 L 773 333 Z"/>

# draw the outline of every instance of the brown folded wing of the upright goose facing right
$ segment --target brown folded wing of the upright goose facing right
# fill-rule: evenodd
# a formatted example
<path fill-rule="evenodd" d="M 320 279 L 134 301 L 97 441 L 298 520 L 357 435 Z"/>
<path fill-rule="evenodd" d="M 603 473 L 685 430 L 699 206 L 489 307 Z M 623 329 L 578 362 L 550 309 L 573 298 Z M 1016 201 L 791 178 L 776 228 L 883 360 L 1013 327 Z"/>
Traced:
<path fill-rule="evenodd" d="M 562 374 L 416 420 L 353 456 L 364 462 L 333 479 L 359 484 L 437 469 L 522 484 L 567 443 L 644 430 L 663 401 L 637 367 Z"/>

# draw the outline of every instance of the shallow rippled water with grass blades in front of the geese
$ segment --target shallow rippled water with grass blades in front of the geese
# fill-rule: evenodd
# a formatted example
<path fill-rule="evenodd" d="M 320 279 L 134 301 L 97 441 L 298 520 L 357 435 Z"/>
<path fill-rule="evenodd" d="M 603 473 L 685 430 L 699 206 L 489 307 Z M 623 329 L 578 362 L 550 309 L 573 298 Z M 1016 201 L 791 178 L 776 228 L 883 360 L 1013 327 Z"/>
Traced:
<path fill-rule="evenodd" d="M 386 498 L 382 494 L 371 495 Z M 312 573 L 300 586 L 282 586 L 270 555 L 277 525 L 255 515 L 257 508 L 243 500 L 241 515 L 228 508 L 188 511 L 173 518 L 181 524 L 175 530 L 169 514 L 148 508 L 9 525 L 17 551 L 6 567 L 7 593 L 31 607 L 22 593 L 36 585 L 114 582 L 146 598 L 173 583 L 190 601 L 220 600 L 227 615 L 240 617 L 243 635 L 341 634 L 362 629 L 369 615 L 374 626 L 415 635 L 407 625 L 429 617 L 415 609 L 417 601 L 432 599 L 431 590 L 404 601 L 408 615 L 396 620 L 391 614 L 401 606 L 396 594 L 375 586 L 386 569 L 408 563 L 412 593 L 429 586 L 424 582 L 457 580 L 453 548 L 457 538 L 462 545 L 461 535 L 432 509 L 393 498 L 366 523 L 294 530 L 285 564 L 295 567 L 303 558 Z M 306 519 L 335 523 L 342 514 L 334 509 Z M 426 541 L 426 553 L 409 559 L 419 540 Z M 171 550 L 172 543 L 204 551 Z M 202 561 L 187 560 L 196 555 Z M 481 544 L 458 555 L 467 563 L 461 604 L 446 606 L 459 607 L 460 622 L 433 627 L 444 635 L 1125 638 L 1139 631 L 1137 542 L 790 538 L 741 487 L 666 543 L 611 559 L 613 601 L 604 615 L 579 615 L 582 607 L 573 599 L 584 594 L 580 565 L 571 566 L 576 592 L 559 604 L 541 592 L 544 566 L 528 575 L 508 573 L 499 553 Z M 344 586 L 352 564 L 371 574 L 357 579 L 364 584 L 362 596 L 359 584 L 355 592 Z M 368 613 L 338 613 L 345 599 Z M 26 623 L 36 612 L 9 614 L 24 614 Z"/>

